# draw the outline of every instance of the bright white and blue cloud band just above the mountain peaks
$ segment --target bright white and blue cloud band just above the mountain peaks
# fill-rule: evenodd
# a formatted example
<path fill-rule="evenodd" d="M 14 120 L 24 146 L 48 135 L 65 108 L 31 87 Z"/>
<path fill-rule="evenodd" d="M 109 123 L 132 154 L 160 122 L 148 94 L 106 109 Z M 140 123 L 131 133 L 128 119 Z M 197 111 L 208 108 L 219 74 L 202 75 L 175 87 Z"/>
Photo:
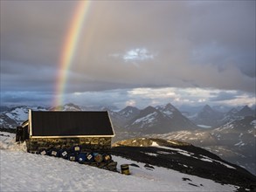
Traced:
<path fill-rule="evenodd" d="M 51 105 L 51 93 L 15 92 L 17 97 L 12 97 L 12 95 L 14 93 L 2 94 L 1 99 L 6 104 Z M 206 104 L 210 106 L 253 106 L 255 104 L 255 95 L 251 93 L 177 87 L 74 92 L 66 93 L 61 99 L 64 100 L 64 103 L 72 102 L 79 106 L 117 106 L 120 109 L 125 106 L 136 106 L 142 109 L 146 106 L 159 106 L 167 103 L 176 107 L 204 106 Z"/>

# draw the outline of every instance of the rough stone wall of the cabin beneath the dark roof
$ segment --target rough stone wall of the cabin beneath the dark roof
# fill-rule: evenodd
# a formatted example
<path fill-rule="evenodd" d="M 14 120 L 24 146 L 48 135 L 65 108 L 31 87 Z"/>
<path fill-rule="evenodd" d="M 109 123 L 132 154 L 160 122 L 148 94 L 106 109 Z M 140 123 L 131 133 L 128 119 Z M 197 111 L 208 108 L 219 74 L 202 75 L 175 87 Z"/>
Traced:
<path fill-rule="evenodd" d="M 28 152 L 36 153 L 47 148 L 72 148 L 80 145 L 82 152 L 108 151 L 111 147 L 111 137 L 81 137 L 81 138 L 30 138 L 26 141 Z"/>

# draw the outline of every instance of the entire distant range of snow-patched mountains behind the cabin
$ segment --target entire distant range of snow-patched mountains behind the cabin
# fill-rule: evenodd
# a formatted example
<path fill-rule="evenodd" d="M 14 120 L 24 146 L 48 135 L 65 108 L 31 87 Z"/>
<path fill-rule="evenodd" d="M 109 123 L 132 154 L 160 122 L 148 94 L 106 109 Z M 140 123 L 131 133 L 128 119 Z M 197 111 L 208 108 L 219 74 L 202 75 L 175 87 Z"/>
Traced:
<path fill-rule="evenodd" d="M 108 111 L 114 125 L 114 141 L 133 137 L 149 136 L 163 139 L 175 139 L 204 147 L 247 168 L 255 171 L 255 109 L 249 106 L 232 108 L 220 112 L 214 107 L 204 106 L 197 113 L 181 113 L 170 103 L 164 106 L 147 106 L 138 109 L 126 106 L 116 110 L 112 106 L 77 106 L 72 103 L 55 108 L 45 107 L 2 107 L 0 113 L 1 128 L 16 128 L 28 119 L 28 110 L 61 111 Z"/>

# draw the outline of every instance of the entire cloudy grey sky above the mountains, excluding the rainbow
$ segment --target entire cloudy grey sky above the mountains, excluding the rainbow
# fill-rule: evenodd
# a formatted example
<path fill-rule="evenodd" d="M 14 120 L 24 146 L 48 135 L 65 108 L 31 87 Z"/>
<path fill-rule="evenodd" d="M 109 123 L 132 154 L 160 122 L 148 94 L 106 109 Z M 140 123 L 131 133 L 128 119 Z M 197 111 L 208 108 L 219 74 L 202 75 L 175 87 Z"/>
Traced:
<path fill-rule="evenodd" d="M 1 106 L 50 106 L 76 1 L 1 1 Z M 65 102 L 255 104 L 255 1 L 93 1 Z"/>

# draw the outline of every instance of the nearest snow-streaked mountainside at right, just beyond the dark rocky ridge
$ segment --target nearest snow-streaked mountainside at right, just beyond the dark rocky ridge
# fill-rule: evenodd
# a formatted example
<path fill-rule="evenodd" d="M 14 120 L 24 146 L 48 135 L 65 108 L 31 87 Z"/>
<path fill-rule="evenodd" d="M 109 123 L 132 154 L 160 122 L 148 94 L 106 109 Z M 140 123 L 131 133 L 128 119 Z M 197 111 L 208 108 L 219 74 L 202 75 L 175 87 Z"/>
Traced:
<path fill-rule="evenodd" d="M 169 134 L 149 134 L 147 137 L 189 142 L 218 154 L 226 161 L 246 168 L 256 175 L 256 118 L 240 117 L 215 129 L 176 131 Z"/>

